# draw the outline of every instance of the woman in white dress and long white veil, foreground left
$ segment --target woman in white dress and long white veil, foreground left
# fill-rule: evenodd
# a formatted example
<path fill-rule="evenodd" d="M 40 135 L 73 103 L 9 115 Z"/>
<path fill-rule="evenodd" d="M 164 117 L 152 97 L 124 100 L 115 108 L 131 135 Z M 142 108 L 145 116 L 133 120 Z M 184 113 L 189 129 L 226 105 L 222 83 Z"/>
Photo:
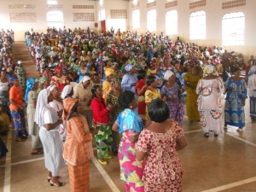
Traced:
<path fill-rule="evenodd" d="M 61 187 L 59 171 L 65 166 L 62 157 L 62 141 L 59 133 L 59 119 L 55 109 L 50 108 L 49 102 L 53 101 L 53 95 L 48 89 L 41 90 L 38 95 L 38 102 L 35 114 L 35 122 L 39 125 L 39 137 L 44 147 L 44 164 L 48 173 L 48 181 L 51 186 Z"/>

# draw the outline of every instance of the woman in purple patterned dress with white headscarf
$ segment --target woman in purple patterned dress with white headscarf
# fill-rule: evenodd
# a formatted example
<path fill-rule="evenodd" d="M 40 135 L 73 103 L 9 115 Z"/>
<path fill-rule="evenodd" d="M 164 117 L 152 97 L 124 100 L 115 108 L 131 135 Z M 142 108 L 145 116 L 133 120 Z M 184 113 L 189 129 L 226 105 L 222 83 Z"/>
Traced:
<path fill-rule="evenodd" d="M 180 91 L 175 81 L 175 73 L 168 70 L 164 75 L 166 84 L 161 89 L 161 96 L 166 96 L 166 104 L 170 110 L 170 119 L 176 120 L 178 125 L 183 125 L 183 102 L 180 101 Z"/>

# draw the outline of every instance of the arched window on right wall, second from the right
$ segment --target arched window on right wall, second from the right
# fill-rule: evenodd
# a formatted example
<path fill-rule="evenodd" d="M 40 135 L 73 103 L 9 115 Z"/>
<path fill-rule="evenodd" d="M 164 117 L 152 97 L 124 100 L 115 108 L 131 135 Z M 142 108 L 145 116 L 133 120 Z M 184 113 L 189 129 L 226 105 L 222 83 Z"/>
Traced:
<path fill-rule="evenodd" d="M 189 18 L 189 34 L 190 39 L 206 39 L 206 12 L 197 11 L 190 14 Z"/>

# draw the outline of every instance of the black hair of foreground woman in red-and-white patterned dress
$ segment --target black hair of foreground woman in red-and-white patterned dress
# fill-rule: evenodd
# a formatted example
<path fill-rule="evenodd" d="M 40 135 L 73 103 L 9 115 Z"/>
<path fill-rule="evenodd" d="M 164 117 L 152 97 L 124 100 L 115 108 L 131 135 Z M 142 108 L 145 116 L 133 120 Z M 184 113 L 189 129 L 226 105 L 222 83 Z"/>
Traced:
<path fill-rule="evenodd" d="M 154 99 L 148 104 L 148 115 L 156 123 L 162 123 L 169 119 L 170 110 L 161 99 Z"/>

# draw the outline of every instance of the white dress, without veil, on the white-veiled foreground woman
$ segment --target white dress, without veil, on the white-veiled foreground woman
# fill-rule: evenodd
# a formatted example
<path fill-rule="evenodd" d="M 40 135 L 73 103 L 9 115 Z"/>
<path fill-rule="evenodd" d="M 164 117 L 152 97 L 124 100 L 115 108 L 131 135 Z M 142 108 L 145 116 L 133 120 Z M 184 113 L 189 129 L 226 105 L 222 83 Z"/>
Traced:
<path fill-rule="evenodd" d="M 58 121 L 58 114 L 49 105 L 44 107 L 44 124 L 55 124 Z M 63 148 L 59 126 L 54 130 L 47 131 L 44 126 L 40 127 L 39 136 L 44 147 L 44 163 L 46 169 L 53 177 L 59 176 L 59 170 L 65 166 L 62 157 Z"/>

